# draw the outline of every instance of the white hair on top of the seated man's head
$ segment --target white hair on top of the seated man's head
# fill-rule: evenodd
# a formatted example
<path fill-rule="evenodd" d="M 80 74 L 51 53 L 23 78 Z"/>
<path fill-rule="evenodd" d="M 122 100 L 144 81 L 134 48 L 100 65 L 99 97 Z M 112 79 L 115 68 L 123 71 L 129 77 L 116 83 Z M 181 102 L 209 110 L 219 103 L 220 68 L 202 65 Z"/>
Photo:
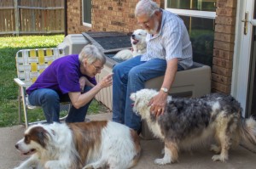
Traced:
<path fill-rule="evenodd" d="M 135 8 L 135 17 L 147 14 L 148 17 L 152 16 L 156 10 L 160 10 L 157 3 L 152 0 L 141 0 L 137 3 Z"/>

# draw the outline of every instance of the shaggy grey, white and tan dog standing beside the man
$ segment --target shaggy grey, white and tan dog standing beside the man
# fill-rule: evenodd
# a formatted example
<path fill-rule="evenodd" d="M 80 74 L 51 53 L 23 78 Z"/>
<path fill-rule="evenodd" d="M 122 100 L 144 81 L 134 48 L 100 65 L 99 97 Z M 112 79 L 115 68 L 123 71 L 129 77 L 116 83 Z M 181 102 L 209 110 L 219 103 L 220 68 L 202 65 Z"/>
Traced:
<path fill-rule="evenodd" d="M 165 142 L 165 155 L 154 163 L 165 165 L 177 161 L 180 149 L 192 149 L 202 144 L 212 144 L 213 161 L 228 160 L 230 145 L 240 141 L 247 147 L 256 145 L 256 121 L 241 119 L 241 106 L 230 95 L 212 93 L 198 99 L 168 96 L 165 112 L 159 117 L 150 113 L 148 102 L 158 92 L 143 89 L 131 93 L 133 110 L 147 121 L 154 136 Z"/>

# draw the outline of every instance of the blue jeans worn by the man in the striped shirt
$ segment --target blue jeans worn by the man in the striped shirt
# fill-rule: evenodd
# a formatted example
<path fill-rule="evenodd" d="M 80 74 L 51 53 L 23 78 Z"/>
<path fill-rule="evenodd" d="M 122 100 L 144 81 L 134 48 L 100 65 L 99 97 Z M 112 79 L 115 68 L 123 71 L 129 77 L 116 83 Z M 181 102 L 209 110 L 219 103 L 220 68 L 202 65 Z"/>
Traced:
<path fill-rule="evenodd" d="M 178 65 L 178 70 L 183 67 Z M 131 93 L 144 88 L 144 83 L 166 73 L 166 60 L 141 61 L 141 56 L 128 59 L 113 67 L 113 121 L 139 131 L 141 117 L 132 111 Z"/>

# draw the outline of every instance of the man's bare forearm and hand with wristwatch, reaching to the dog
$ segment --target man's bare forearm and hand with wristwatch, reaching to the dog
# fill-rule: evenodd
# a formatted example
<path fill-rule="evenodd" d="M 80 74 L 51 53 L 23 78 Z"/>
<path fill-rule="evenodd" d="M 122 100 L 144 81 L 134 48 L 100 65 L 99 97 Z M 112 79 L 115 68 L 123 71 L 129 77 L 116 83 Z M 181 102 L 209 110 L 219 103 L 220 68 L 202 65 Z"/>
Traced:
<path fill-rule="evenodd" d="M 172 83 L 174 82 L 176 73 L 177 58 L 168 60 L 164 82 L 161 87 L 165 87 L 169 90 L 172 87 Z M 154 113 L 154 115 L 158 116 L 165 111 L 167 96 L 168 93 L 165 93 L 164 91 L 160 90 L 160 92 L 156 96 L 154 96 L 153 99 L 150 100 L 150 111 Z"/>

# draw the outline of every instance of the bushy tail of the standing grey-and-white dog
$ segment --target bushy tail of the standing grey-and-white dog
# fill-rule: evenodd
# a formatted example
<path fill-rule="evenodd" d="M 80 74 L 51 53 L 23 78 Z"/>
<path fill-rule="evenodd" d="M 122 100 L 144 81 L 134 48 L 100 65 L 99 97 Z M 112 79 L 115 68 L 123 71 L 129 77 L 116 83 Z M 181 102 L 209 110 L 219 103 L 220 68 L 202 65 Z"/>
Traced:
<path fill-rule="evenodd" d="M 256 121 L 253 117 L 241 120 L 240 135 L 241 145 L 256 152 Z"/>

